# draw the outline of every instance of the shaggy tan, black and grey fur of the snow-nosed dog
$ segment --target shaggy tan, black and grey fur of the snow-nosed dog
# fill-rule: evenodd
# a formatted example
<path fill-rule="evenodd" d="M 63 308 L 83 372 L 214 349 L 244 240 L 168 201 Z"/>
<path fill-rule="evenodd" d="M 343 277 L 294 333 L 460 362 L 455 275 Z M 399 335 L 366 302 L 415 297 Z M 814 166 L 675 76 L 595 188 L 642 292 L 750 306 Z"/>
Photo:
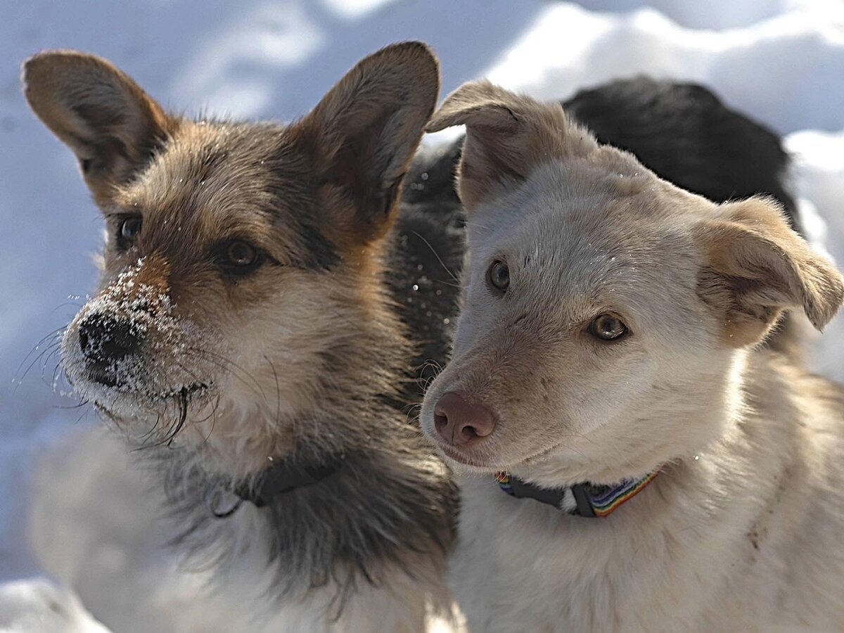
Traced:
<path fill-rule="evenodd" d="M 387 630 L 394 616 L 414 629 L 426 600 L 447 601 L 439 572 L 452 490 L 404 421 L 452 335 L 460 143 L 414 163 L 390 229 L 398 178 L 436 92 L 423 51 L 393 47 L 362 62 L 290 126 L 169 115 L 124 73 L 78 53 L 42 54 L 24 73 L 30 104 L 77 154 L 108 225 L 102 290 L 64 336 L 68 376 L 144 447 L 140 461 L 163 479 L 192 560 L 214 562 L 221 587 L 246 578 L 254 587 L 241 587 L 245 596 L 268 593 L 256 617 L 277 614 L 289 630 L 338 615 L 341 629 Z M 687 93 L 636 79 L 566 107 L 711 197 L 696 166 L 735 156 L 741 187 L 773 192 L 746 171 L 754 124 Z M 713 116 L 734 133 L 682 160 L 693 138 L 717 131 L 706 126 Z M 778 182 L 784 154 L 766 134 L 777 166 L 763 176 Z M 357 173 L 361 156 L 371 169 Z M 122 246 L 118 230 L 135 216 L 138 241 Z M 261 246 L 254 275 L 220 267 L 234 238 Z M 78 326 L 98 314 L 143 333 L 143 360 L 119 363 L 119 385 L 95 380 L 81 352 Z M 234 508 L 233 487 L 271 458 L 338 455 L 341 472 L 321 484 L 263 509 L 245 503 L 229 518 L 211 512 Z"/>

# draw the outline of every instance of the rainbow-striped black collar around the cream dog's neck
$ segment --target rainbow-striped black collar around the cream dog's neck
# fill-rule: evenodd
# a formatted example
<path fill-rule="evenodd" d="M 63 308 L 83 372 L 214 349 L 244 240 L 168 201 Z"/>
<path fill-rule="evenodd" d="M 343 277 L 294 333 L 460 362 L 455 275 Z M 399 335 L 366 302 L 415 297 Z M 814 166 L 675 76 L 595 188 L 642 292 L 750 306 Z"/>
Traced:
<path fill-rule="evenodd" d="M 638 495 L 659 473 L 659 468 L 641 479 L 625 479 L 616 485 L 574 484 L 566 488 L 540 488 L 526 484 L 510 473 L 495 473 L 501 490 L 517 499 L 534 499 L 555 506 L 576 517 L 606 517 L 610 512 Z"/>

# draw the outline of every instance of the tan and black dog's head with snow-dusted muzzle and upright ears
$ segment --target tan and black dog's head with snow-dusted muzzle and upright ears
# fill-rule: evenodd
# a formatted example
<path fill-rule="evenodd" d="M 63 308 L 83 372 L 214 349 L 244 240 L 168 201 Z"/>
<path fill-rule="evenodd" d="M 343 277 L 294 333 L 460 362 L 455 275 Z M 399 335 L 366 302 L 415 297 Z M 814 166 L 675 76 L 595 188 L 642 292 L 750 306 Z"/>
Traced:
<path fill-rule="evenodd" d="M 344 376 L 383 387 L 391 360 L 355 349 L 395 331 L 380 252 L 436 105 L 426 46 L 366 57 L 288 126 L 172 116 L 73 51 L 32 57 L 23 79 L 106 218 L 100 292 L 62 347 L 81 395 L 158 439 L 187 418 L 184 441 L 248 471 L 316 434 Z"/>

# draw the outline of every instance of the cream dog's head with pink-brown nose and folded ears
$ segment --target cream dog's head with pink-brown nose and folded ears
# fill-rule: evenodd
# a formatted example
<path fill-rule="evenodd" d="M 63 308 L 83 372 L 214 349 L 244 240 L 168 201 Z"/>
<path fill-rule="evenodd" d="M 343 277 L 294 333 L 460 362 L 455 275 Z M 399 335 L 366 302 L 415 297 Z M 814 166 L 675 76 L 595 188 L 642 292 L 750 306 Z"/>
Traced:
<path fill-rule="evenodd" d="M 717 205 L 600 146 L 557 105 L 467 84 L 452 361 L 425 434 L 473 472 L 614 482 L 701 448 L 738 406 L 743 349 L 785 309 L 822 327 L 844 285 L 757 198 Z"/>

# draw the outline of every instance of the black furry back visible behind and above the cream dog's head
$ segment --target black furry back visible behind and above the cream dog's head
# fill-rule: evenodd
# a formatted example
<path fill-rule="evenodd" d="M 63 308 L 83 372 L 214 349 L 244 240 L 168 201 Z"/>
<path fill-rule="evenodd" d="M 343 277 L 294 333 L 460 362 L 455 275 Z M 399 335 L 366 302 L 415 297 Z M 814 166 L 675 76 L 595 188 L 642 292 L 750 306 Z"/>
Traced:
<path fill-rule="evenodd" d="M 788 155 L 768 128 L 697 84 L 639 77 L 583 90 L 563 103 L 601 143 L 626 149 L 657 176 L 716 203 L 775 197 L 798 230 L 783 184 Z"/>

